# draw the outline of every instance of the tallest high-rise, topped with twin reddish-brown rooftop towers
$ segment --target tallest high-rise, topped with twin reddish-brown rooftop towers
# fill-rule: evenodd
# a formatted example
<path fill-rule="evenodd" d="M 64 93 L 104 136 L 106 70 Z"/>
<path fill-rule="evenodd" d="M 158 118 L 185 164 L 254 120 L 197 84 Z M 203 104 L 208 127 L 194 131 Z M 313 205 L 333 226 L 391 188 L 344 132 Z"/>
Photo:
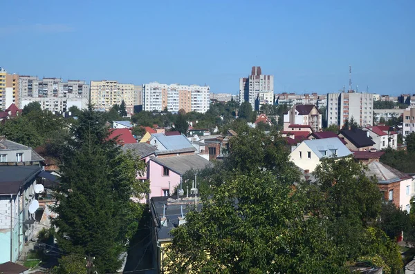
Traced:
<path fill-rule="evenodd" d="M 261 98 L 259 98 L 260 92 Z M 264 95 L 264 93 L 268 95 Z M 239 79 L 239 104 L 248 101 L 252 109 L 259 110 L 262 104 L 274 103 L 273 99 L 268 100 L 271 97 L 274 98 L 274 76 L 263 75 L 261 67 L 253 66 L 251 75 Z"/>

